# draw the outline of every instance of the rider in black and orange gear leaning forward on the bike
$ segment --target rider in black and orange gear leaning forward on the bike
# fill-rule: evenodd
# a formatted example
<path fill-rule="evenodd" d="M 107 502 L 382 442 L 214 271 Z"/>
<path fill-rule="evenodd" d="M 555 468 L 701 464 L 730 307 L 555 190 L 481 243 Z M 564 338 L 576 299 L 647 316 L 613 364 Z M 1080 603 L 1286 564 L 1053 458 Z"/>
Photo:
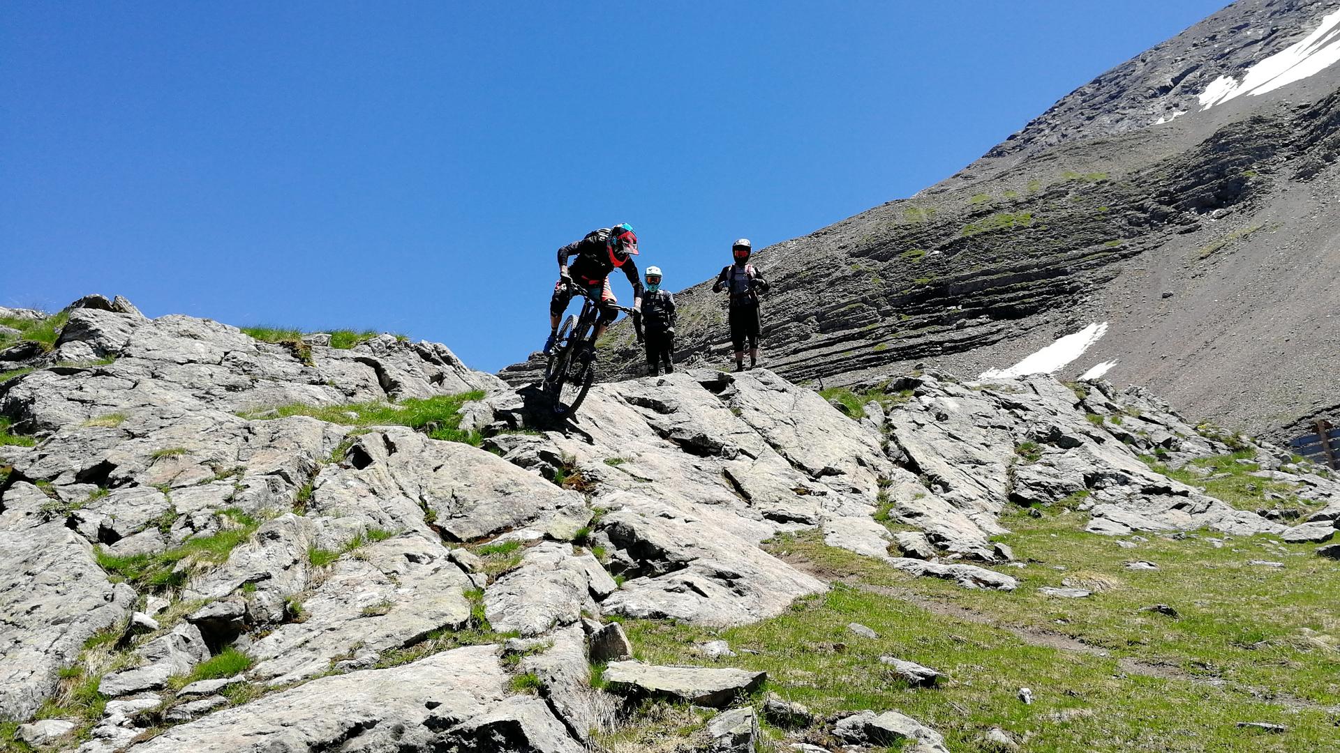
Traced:
<path fill-rule="evenodd" d="M 591 230 L 579 241 L 572 241 L 559 249 L 559 281 L 553 285 L 553 297 L 549 299 L 549 339 L 544 340 L 544 354 L 553 348 L 553 340 L 559 334 L 559 319 L 563 310 L 572 300 L 572 285 L 586 288 L 587 295 L 602 301 L 600 319 L 596 322 L 595 336 L 604 334 L 606 327 L 619 315 L 614 308 L 618 299 L 610 289 L 610 273 L 614 269 L 623 269 L 632 285 L 632 311 L 642 310 L 642 280 L 638 277 L 638 265 L 632 257 L 638 255 L 638 236 L 627 222 L 612 228 Z M 568 267 L 568 259 L 576 256 L 576 261 Z"/>

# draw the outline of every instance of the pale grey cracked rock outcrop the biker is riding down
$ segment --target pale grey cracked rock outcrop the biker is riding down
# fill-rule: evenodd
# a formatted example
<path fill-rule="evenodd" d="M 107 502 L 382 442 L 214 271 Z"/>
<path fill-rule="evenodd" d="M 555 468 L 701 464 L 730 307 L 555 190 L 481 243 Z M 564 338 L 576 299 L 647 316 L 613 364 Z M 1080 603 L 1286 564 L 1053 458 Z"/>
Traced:
<path fill-rule="evenodd" d="M 1195 468 L 1229 452 L 1225 437 L 1103 382 L 925 372 L 856 418 L 770 371 L 687 370 L 599 385 L 555 425 L 533 391 L 452 370 L 437 346 L 311 344 L 307 363 L 212 322 L 94 303 L 70 311 L 56 348 L 111 355 L 35 362 L 0 386 L 0 410 L 34 441 L 0 446 L 0 600 L 13 615 L 0 626 L 0 714 L 27 721 L 62 675 L 96 678 L 114 698 L 100 720 L 32 730 L 87 733 L 83 753 L 576 753 L 635 706 L 626 698 L 728 707 L 757 690 L 762 673 L 733 669 L 742 659 L 722 640 L 701 647 L 710 667 L 655 666 L 606 619 L 781 615 L 828 584 L 775 555 L 779 536 L 1008 592 L 1017 580 L 996 568 L 1020 563 L 993 540 L 1006 505 L 1071 506 L 1103 533 L 1320 540 L 1340 504 L 1335 481 L 1240 439 L 1257 453 L 1252 473 L 1294 489 L 1315 520 L 1286 529 L 1168 478 L 1142 456 Z M 394 411 L 393 397 L 465 389 L 484 393 L 462 411 L 482 448 L 430 426 L 356 425 L 347 405 Z M 354 425 L 283 415 L 263 397 Z M 858 628 L 852 640 L 879 639 Z M 899 682 L 938 678 L 886 659 Z M 891 714 L 833 734 L 939 749 Z M 718 750 L 758 736 L 749 709 L 701 732 Z"/>

